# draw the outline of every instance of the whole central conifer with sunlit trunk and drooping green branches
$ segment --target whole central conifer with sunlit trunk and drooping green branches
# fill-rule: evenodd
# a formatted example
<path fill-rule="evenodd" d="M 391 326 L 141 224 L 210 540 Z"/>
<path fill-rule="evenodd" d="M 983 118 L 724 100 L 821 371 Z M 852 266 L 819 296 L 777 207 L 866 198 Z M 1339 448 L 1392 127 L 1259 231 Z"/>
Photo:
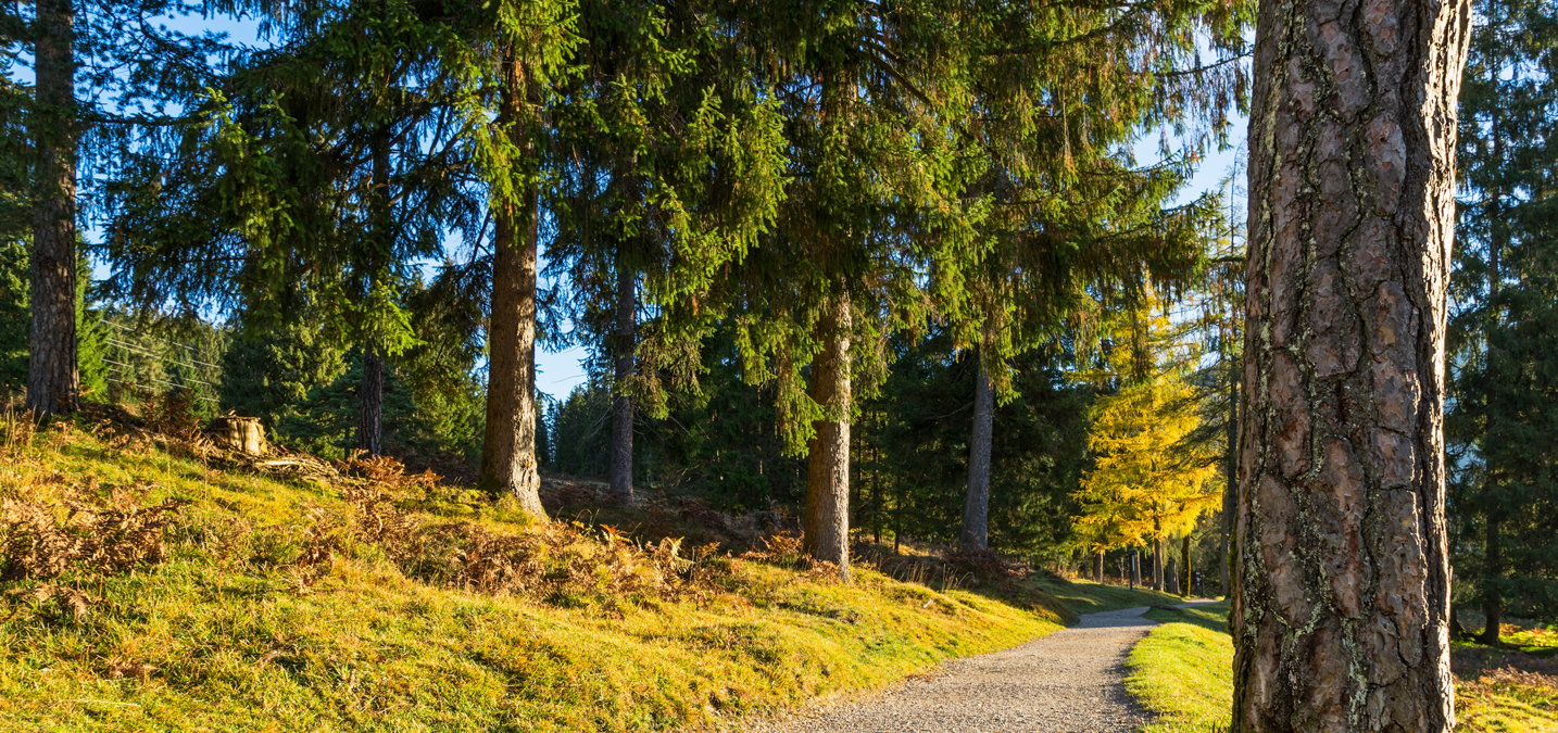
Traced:
<path fill-rule="evenodd" d="M 773 386 L 785 444 L 809 456 L 805 549 L 846 576 L 851 416 L 883 375 L 887 331 L 922 322 L 916 263 L 971 235 L 952 143 L 968 109 L 963 14 L 848 0 L 732 19 L 781 103 L 790 182 L 774 232 L 721 272 L 717 303 L 743 377 Z"/>

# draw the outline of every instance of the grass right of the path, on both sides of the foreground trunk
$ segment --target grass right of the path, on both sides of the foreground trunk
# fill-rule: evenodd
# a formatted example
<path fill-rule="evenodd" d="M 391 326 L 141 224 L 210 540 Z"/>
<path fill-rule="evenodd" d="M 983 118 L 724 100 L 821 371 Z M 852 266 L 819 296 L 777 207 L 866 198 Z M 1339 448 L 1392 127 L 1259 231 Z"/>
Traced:
<path fill-rule="evenodd" d="M 1162 623 L 1126 663 L 1126 689 L 1159 714 L 1142 733 L 1212 733 L 1228 730 L 1234 697 L 1234 646 L 1228 637 L 1228 602 L 1183 612 L 1151 610 Z M 1546 638 L 1552 638 L 1547 635 Z M 1544 635 L 1524 633 L 1514 643 L 1541 646 Z M 1558 638 L 1553 638 L 1558 644 Z M 1533 647 L 1535 649 L 1535 647 Z M 1457 644 L 1455 710 L 1458 731 L 1558 731 L 1558 677 L 1511 672 L 1510 654 L 1474 661 L 1471 646 Z M 1500 671 L 1502 669 L 1502 671 Z"/>

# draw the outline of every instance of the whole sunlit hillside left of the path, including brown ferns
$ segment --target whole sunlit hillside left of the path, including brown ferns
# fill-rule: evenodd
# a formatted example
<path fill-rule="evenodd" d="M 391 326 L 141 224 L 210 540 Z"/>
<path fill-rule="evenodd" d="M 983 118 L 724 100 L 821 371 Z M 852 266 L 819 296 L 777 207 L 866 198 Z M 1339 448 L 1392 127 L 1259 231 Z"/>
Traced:
<path fill-rule="evenodd" d="M 1073 613 L 1016 577 L 936 590 L 863 563 L 844 585 L 753 518 L 714 523 L 749 548 L 539 526 L 394 462 L 170 433 L 0 420 L 0 727 L 728 728 Z"/>

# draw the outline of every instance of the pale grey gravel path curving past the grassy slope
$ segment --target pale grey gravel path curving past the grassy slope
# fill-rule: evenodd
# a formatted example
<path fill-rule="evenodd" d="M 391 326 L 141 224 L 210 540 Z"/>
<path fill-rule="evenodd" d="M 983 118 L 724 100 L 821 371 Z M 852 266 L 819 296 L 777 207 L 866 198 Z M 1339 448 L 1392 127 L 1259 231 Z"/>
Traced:
<path fill-rule="evenodd" d="M 1148 722 L 1125 691 L 1125 655 L 1158 626 L 1145 612 L 1089 613 L 1070 629 L 754 733 L 1131 733 Z"/>

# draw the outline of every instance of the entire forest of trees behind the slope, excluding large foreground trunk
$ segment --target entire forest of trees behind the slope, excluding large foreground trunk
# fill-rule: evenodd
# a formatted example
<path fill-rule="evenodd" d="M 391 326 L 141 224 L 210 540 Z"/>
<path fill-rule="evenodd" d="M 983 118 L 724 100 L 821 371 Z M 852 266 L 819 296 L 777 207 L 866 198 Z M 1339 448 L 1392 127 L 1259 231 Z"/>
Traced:
<path fill-rule="evenodd" d="M 30 408 L 174 395 L 534 514 L 542 473 L 779 510 L 846 570 L 908 540 L 1231 587 L 1245 223 L 1187 182 L 1246 110 L 1251 2 L 0 12 L 0 388 Z M 1555 23 L 1479 14 L 1455 604 L 1553 618 Z M 587 381 L 553 400 L 534 350 L 566 345 Z"/>

